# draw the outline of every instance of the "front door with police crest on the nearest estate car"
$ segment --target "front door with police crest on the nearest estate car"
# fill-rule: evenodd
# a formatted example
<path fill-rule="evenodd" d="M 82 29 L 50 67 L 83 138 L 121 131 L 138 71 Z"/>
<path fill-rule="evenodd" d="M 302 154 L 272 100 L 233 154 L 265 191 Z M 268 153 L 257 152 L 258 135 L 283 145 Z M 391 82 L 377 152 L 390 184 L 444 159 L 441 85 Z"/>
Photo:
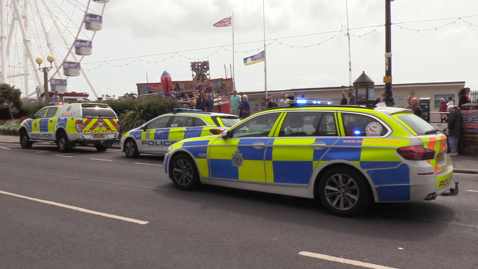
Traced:
<path fill-rule="evenodd" d="M 280 115 L 251 117 L 216 139 L 208 152 L 210 177 L 265 183 L 265 149 Z"/>

